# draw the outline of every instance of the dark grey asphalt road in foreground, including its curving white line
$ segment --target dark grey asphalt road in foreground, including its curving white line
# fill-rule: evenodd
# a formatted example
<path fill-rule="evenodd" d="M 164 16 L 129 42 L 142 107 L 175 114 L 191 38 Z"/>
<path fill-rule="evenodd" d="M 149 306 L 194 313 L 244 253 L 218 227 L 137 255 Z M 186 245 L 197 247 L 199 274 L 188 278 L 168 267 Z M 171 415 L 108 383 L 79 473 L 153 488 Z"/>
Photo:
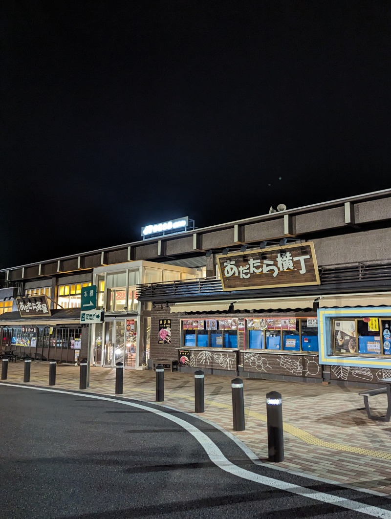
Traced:
<path fill-rule="evenodd" d="M 0 445 L 1 519 L 391 518 L 386 497 L 254 465 L 204 421 L 139 401 L 0 385 Z"/>

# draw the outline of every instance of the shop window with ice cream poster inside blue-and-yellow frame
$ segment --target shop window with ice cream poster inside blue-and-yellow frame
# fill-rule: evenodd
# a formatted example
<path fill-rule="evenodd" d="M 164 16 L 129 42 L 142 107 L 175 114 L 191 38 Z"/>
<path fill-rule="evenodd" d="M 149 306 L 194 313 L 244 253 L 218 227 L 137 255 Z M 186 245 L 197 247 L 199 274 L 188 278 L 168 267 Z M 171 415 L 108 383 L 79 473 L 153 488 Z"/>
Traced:
<path fill-rule="evenodd" d="M 391 320 L 380 317 L 332 319 L 333 351 L 348 355 L 388 355 Z"/>

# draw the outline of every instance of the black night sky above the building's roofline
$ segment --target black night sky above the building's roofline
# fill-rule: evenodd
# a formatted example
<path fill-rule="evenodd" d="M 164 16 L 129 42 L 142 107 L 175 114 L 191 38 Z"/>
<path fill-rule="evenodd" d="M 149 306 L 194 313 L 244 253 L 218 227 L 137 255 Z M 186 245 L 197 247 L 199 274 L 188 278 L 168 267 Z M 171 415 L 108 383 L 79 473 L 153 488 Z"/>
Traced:
<path fill-rule="evenodd" d="M 0 9 L 1 268 L 390 187 L 389 2 Z"/>

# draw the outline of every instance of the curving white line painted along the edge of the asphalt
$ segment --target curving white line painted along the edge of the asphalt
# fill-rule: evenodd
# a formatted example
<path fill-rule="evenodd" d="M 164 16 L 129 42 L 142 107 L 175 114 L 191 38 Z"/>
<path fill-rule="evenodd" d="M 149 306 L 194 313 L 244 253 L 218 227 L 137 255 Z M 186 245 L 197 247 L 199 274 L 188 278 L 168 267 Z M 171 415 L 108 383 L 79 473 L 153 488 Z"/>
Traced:
<path fill-rule="evenodd" d="M 391 519 L 391 511 L 385 510 L 383 508 L 372 507 L 367 504 L 360 503 L 358 501 L 352 501 L 350 499 L 334 496 L 332 494 L 318 492 L 316 490 L 313 490 L 312 488 L 305 488 L 300 485 L 294 485 L 293 483 L 287 483 L 285 481 L 276 480 L 273 477 L 262 476 L 260 474 L 255 474 L 254 472 L 251 472 L 249 470 L 242 469 L 234 465 L 234 463 L 232 463 L 230 460 L 228 460 L 221 452 L 219 447 L 215 443 L 213 443 L 212 440 L 205 433 L 197 429 L 197 427 L 189 424 L 181 418 L 172 416 L 169 413 L 165 413 L 164 411 L 160 411 L 159 409 L 155 409 L 154 407 L 148 407 L 146 405 L 137 404 L 135 402 L 128 402 L 125 400 L 116 400 L 114 398 L 100 397 L 99 395 L 95 394 L 93 395 L 58 389 L 22 386 L 18 384 L 0 383 L 0 385 L 8 387 L 17 387 L 22 389 L 34 389 L 36 391 L 48 391 L 51 393 L 69 394 L 76 397 L 92 398 L 95 400 L 103 400 L 105 402 L 114 402 L 116 404 L 129 405 L 131 407 L 143 409 L 144 411 L 149 411 L 150 413 L 154 413 L 155 415 L 166 418 L 167 420 L 171 420 L 172 422 L 174 422 L 175 424 L 179 425 L 187 432 L 189 432 L 192 436 L 194 436 L 198 443 L 203 447 L 209 459 L 214 463 L 214 465 L 224 470 L 225 472 L 241 477 L 245 480 L 260 483 L 261 485 L 269 486 L 272 488 L 278 488 L 279 490 L 284 490 L 286 492 L 290 492 L 291 494 L 296 494 L 298 496 L 306 497 L 309 499 L 315 499 L 316 501 L 321 501 L 323 503 L 328 503 L 341 508 L 346 508 L 347 510 L 354 510 L 356 512 L 367 514 L 372 517 Z"/>

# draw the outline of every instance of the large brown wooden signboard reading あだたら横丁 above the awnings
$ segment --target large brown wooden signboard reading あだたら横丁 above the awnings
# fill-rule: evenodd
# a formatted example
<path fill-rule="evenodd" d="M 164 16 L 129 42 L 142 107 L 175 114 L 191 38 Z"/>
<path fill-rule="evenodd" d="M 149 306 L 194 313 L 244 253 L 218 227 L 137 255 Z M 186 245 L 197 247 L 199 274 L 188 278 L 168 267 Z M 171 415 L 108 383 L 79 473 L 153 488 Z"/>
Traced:
<path fill-rule="evenodd" d="M 223 290 L 319 285 L 312 242 L 217 256 Z"/>

